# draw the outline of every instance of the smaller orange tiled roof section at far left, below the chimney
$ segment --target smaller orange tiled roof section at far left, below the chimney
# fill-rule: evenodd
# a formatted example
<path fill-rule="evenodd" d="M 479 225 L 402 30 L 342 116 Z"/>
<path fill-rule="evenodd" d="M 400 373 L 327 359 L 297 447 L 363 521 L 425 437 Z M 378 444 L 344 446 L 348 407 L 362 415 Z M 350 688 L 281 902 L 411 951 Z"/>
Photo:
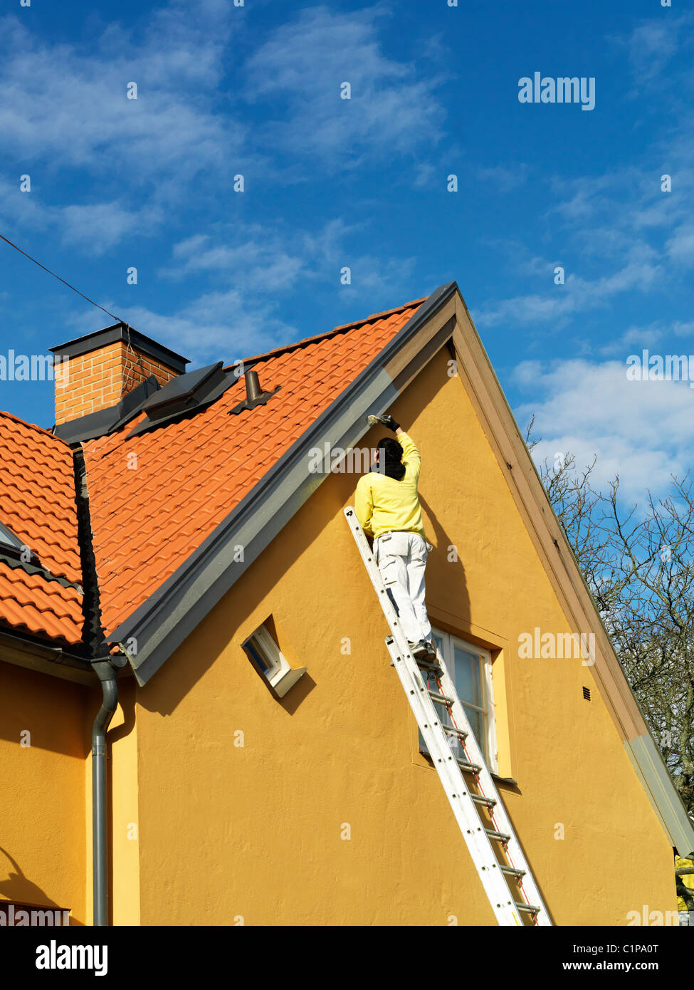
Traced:
<path fill-rule="evenodd" d="M 72 452 L 41 427 L 0 413 L 0 522 L 50 574 L 0 561 L 0 624 L 60 644 L 77 644 L 81 584 Z M 1 549 L 0 549 L 1 552 Z"/>

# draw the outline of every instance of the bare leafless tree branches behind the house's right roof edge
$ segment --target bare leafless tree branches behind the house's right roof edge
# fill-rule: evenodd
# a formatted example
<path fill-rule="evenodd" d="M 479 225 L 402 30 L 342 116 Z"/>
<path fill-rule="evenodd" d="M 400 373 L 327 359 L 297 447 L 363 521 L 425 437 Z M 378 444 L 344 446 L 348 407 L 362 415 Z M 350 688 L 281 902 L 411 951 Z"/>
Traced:
<path fill-rule="evenodd" d="M 532 449 L 531 423 L 526 442 Z M 625 509 L 616 477 L 603 494 L 571 454 L 540 474 L 627 678 L 694 816 L 694 492 Z"/>

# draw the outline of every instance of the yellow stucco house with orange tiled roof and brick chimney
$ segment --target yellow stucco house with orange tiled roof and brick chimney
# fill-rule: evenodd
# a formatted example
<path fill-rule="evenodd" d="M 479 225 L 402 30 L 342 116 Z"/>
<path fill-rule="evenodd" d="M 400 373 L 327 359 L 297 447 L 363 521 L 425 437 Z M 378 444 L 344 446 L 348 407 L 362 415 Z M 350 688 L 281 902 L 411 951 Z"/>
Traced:
<path fill-rule="evenodd" d="M 232 366 L 123 324 L 53 351 L 53 432 L 0 415 L 0 899 L 495 924 L 348 532 L 357 474 L 316 469 L 388 410 L 422 451 L 430 617 L 553 923 L 676 912 L 691 822 L 455 283 Z"/>

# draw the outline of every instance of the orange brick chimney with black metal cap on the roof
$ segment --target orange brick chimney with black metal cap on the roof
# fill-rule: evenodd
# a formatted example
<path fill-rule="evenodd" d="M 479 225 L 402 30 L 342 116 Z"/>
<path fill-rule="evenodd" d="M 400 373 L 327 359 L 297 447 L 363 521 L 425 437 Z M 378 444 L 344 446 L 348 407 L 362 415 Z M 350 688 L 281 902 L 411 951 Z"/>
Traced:
<path fill-rule="evenodd" d="M 184 374 L 189 363 L 125 323 L 50 347 L 54 360 L 55 425 L 117 406 L 154 375 L 159 385 Z"/>

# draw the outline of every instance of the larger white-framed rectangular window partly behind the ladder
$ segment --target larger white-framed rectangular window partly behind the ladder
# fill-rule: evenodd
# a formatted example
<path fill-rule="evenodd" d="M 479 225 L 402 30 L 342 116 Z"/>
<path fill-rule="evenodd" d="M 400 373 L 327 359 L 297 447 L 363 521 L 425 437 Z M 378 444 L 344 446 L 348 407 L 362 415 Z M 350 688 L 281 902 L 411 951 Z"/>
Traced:
<path fill-rule="evenodd" d="M 482 646 L 466 643 L 459 637 L 443 633 L 441 630 L 433 630 L 432 636 L 439 659 L 446 666 L 448 675 L 455 684 L 455 691 L 465 709 L 472 733 L 484 753 L 487 767 L 498 773 L 491 653 Z M 442 708 L 440 714 L 442 722 L 451 725 L 447 709 Z M 451 736 L 449 743 L 456 756 L 463 756 L 458 740 Z M 429 755 L 421 733 L 420 749 Z"/>

